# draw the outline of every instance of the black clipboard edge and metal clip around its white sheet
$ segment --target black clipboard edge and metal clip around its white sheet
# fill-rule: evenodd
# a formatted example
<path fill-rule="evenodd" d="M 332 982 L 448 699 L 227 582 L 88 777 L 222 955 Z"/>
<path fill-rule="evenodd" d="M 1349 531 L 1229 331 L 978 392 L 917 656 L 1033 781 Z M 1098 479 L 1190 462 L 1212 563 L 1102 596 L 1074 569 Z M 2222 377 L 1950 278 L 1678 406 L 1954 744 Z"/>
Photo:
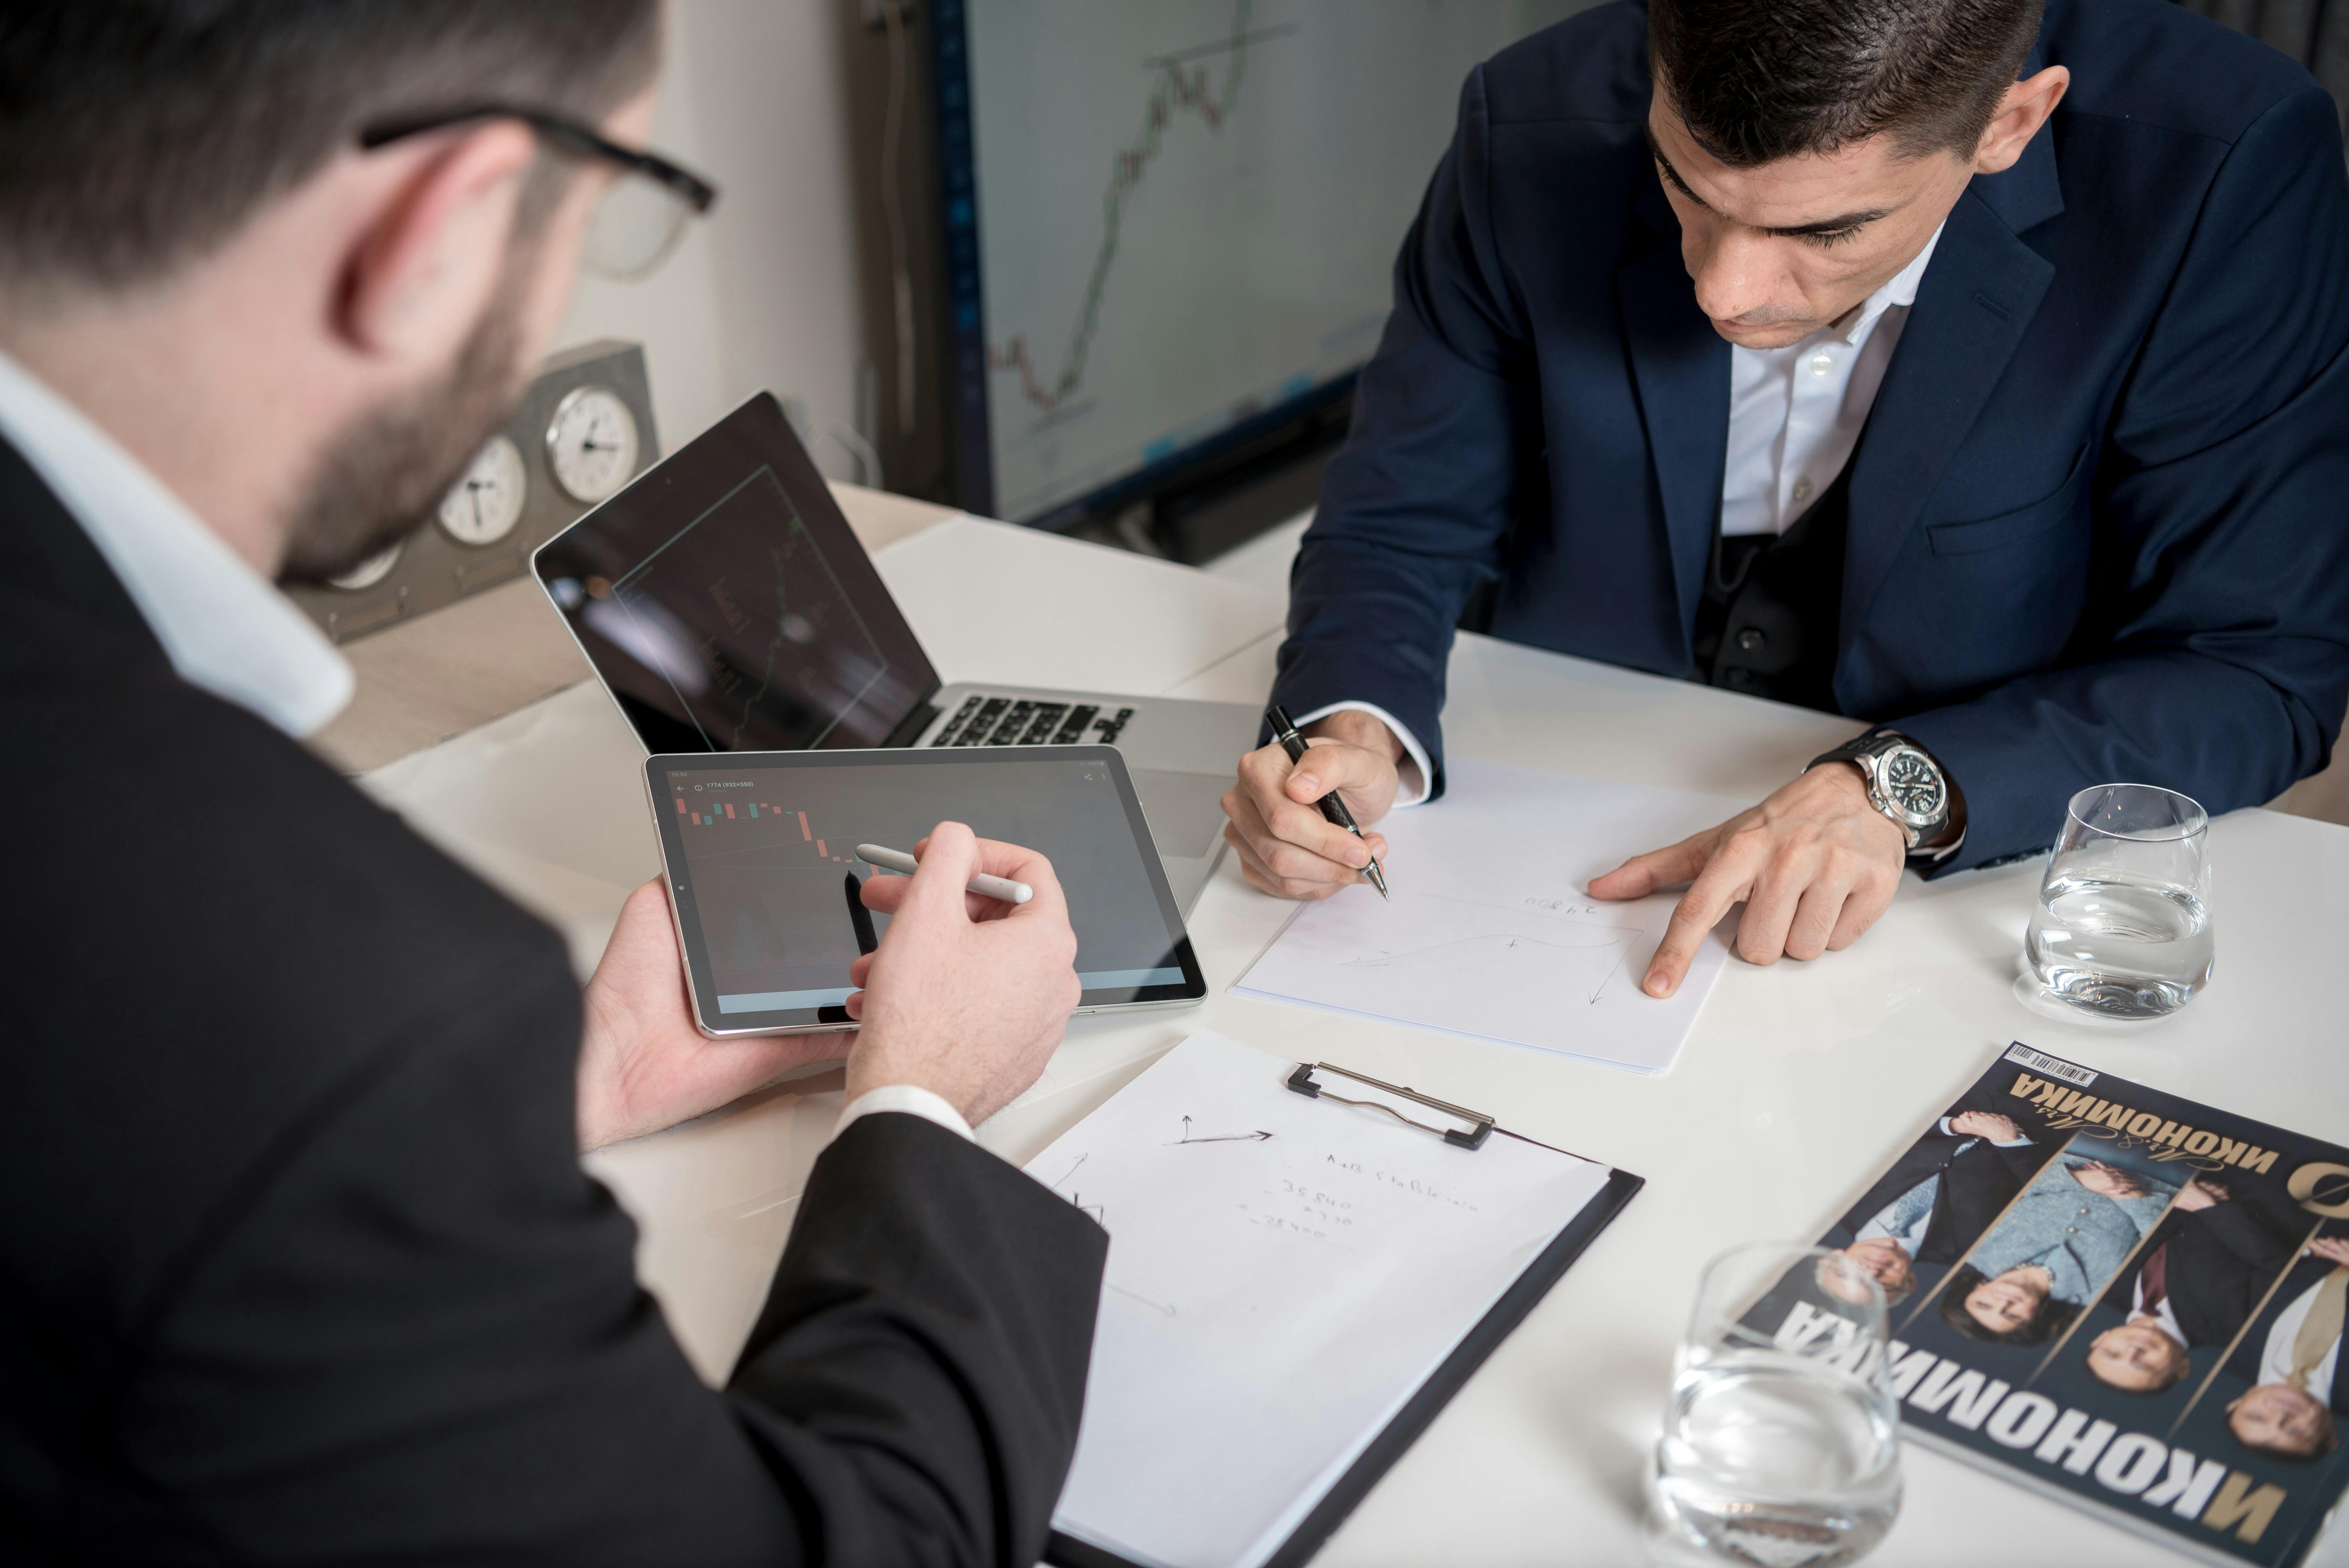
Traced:
<path fill-rule="evenodd" d="M 1327 1077 L 1346 1080 L 1344 1084 L 1332 1084 Z M 1372 1099 L 1353 1099 L 1339 1094 L 1337 1089 L 1367 1084 L 1381 1094 L 1426 1106 L 1442 1117 L 1461 1122 L 1461 1127 L 1438 1127 L 1431 1122 L 1414 1120 L 1393 1106 L 1384 1106 Z M 1334 1063 L 1297 1063 L 1297 1070 L 1287 1077 L 1287 1089 L 1311 1099 L 1330 1099 L 1339 1106 L 1358 1106 L 1367 1110 L 1384 1110 L 1386 1115 L 1416 1127 L 1426 1134 L 1442 1138 L 1445 1143 L 1461 1150 L 1461 1157 L 1473 1157 L 1492 1134 L 1506 1138 L 1517 1138 L 1536 1148 L 1557 1150 L 1550 1143 L 1513 1134 L 1501 1127 L 1494 1117 L 1463 1106 L 1452 1106 L 1447 1101 L 1433 1099 L 1416 1089 L 1402 1084 L 1388 1084 Z M 1647 1185 L 1642 1176 L 1633 1176 L 1623 1169 L 1611 1169 L 1604 1185 L 1595 1197 L 1590 1197 L 1583 1209 L 1550 1239 L 1548 1246 L 1517 1275 L 1517 1279 L 1501 1293 L 1501 1298 L 1468 1329 L 1468 1333 L 1452 1347 L 1452 1352 L 1438 1364 L 1438 1368 L 1419 1383 L 1402 1408 L 1369 1439 L 1369 1446 L 1355 1455 L 1353 1465 L 1322 1493 L 1322 1498 L 1306 1512 L 1304 1521 L 1283 1540 L 1261 1563 L 1261 1568 L 1301 1568 L 1313 1559 L 1315 1552 L 1337 1533 L 1337 1528 L 1360 1507 L 1362 1498 L 1395 1467 L 1419 1434 L 1428 1430 L 1438 1411 L 1452 1401 L 1454 1394 L 1475 1376 L 1487 1357 L 1525 1322 L 1525 1317 L 1541 1303 L 1541 1298 L 1557 1284 L 1564 1272 L 1581 1258 L 1583 1249 L 1614 1218 L 1626 1204 Z M 1076 1540 L 1062 1530 L 1052 1530 L 1045 1554 L 1045 1563 L 1052 1568 L 1139 1568 L 1116 1552 L 1095 1547 L 1092 1542 Z"/>

